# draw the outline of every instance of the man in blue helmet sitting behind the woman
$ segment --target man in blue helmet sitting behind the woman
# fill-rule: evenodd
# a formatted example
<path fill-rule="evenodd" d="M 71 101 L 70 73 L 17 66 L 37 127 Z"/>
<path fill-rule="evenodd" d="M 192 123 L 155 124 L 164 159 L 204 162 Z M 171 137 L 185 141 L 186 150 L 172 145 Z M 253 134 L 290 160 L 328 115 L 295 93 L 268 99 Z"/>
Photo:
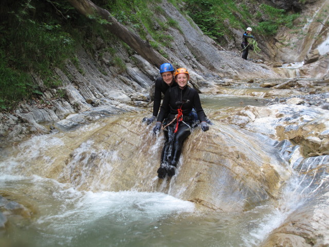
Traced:
<path fill-rule="evenodd" d="M 150 118 L 143 118 L 143 121 L 146 121 L 148 125 L 156 120 L 161 105 L 161 94 L 165 95 L 168 89 L 177 86 L 174 80 L 174 71 L 175 69 L 170 63 L 163 63 L 160 65 L 161 77 L 157 78 L 155 81 L 153 115 Z"/>

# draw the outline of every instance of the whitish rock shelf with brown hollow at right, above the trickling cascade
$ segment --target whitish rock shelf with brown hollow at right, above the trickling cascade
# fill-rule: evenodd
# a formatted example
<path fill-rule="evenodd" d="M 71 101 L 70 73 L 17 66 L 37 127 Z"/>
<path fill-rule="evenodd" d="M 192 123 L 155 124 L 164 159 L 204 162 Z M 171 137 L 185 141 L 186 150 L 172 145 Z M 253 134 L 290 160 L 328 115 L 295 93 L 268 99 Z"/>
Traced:
<path fill-rule="evenodd" d="M 293 99 L 293 100 L 298 100 Z M 320 107 L 273 104 L 267 108 L 247 106 L 222 120 L 277 140 L 291 140 L 305 157 L 328 155 L 329 112 Z"/>

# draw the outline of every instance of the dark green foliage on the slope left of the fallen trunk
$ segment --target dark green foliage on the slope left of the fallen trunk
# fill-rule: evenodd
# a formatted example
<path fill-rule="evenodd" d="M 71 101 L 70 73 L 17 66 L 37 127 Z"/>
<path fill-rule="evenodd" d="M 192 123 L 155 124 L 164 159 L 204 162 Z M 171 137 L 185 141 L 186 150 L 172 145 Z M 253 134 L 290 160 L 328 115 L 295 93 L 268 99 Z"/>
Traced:
<path fill-rule="evenodd" d="M 66 0 L 2 0 L 0 20 L 0 108 L 3 110 L 41 95 L 47 88 L 61 86 L 53 68 L 65 71 L 67 59 L 83 74 L 75 54 L 80 45 L 90 48 L 87 45 L 93 42 L 86 40 L 101 36 L 111 42 L 111 35 L 101 30 L 102 20 L 90 22 Z M 42 90 L 31 74 L 42 79 Z"/>

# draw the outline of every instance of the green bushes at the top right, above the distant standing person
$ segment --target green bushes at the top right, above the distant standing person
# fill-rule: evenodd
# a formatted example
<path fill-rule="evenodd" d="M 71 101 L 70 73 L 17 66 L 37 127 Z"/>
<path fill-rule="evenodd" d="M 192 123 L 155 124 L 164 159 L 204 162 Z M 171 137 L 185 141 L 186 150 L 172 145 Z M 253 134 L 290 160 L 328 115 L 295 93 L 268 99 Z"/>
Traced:
<path fill-rule="evenodd" d="M 223 36 L 231 38 L 230 28 L 252 27 L 257 33 L 272 36 L 280 26 L 292 27 L 299 14 L 286 13 L 272 6 L 241 1 L 186 0 L 184 9 L 199 28 L 218 43 L 225 43 Z M 253 2 L 253 1 L 249 1 Z"/>

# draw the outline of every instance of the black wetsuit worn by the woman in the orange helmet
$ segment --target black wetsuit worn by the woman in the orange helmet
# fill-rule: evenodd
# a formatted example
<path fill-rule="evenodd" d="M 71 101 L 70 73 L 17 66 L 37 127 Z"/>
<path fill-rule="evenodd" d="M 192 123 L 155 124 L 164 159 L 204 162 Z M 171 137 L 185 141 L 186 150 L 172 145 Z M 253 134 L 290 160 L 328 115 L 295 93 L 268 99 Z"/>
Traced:
<path fill-rule="evenodd" d="M 166 118 L 163 123 L 167 125 L 178 114 L 180 107 L 183 120 L 179 122 L 176 133 L 174 133 L 177 123 L 176 119 L 163 131 L 166 142 L 161 154 L 161 164 L 167 163 L 175 167 L 179 160 L 182 143 L 191 134 L 193 124 L 192 109 L 195 109 L 200 122 L 206 121 L 206 114 L 201 106 L 199 95 L 196 90 L 189 86 L 186 86 L 184 90 L 176 86 L 166 92 L 157 121 L 162 122 Z"/>

